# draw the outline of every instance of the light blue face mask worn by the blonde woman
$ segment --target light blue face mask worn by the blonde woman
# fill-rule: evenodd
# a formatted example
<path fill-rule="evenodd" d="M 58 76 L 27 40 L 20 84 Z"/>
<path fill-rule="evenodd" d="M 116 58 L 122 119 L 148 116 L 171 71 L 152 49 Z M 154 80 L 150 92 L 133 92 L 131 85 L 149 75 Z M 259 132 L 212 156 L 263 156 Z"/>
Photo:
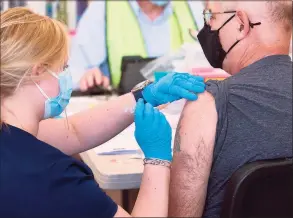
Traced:
<path fill-rule="evenodd" d="M 68 105 L 72 93 L 72 77 L 68 70 L 64 70 L 59 75 L 51 71 L 48 72 L 58 79 L 59 94 L 54 98 L 49 98 L 42 88 L 36 84 L 40 92 L 47 98 L 45 101 L 44 119 L 59 116 Z"/>

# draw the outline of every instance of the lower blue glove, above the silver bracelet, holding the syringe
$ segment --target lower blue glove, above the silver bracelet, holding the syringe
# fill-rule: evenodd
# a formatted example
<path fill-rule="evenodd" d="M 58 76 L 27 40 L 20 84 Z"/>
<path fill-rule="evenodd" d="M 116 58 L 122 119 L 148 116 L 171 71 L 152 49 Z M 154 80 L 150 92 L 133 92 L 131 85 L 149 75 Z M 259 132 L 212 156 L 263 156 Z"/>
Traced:
<path fill-rule="evenodd" d="M 135 112 L 135 138 L 146 158 L 172 160 L 172 130 L 165 116 L 139 99 Z"/>

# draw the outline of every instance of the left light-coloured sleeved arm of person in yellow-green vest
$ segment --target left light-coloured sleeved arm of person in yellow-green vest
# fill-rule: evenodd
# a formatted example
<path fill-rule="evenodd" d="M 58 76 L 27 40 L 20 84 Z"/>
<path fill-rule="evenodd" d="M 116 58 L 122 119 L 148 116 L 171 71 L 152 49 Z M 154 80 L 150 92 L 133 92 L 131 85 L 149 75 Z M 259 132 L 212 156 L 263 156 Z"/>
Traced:
<path fill-rule="evenodd" d="M 92 68 L 98 69 L 95 71 L 95 74 L 99 73 L 96 80 L 102 82 L 99 66 L 106 60 L 105 42 L 105 2 L 93 1 L 81 16 L 71 43 L 68 65 L 76 88 L 80 87 L 80 80 Z M 89 83 L 92 82 L 96 81 L 92 79 Z"/>

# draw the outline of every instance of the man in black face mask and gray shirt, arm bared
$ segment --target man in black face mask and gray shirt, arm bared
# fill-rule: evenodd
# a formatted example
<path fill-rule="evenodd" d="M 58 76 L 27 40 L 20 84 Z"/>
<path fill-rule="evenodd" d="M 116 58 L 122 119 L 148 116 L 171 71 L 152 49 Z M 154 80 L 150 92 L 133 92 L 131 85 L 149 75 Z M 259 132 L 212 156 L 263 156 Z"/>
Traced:
<path fill-rule="evenodd" d="M 231 76 L 209 80 L 183 109 L 170 217 L 219 218 L 236 170 L 292 158 L 292 1 L 209 1 L 204 20 L 197 39 L 209 63 Z"/>

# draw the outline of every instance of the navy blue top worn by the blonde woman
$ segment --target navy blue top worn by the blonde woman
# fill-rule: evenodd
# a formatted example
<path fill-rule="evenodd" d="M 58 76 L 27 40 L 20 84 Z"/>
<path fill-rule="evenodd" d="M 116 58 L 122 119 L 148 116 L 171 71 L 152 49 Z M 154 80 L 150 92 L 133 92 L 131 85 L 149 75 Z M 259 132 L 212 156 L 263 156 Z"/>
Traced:
<path fill-rule="evenodd" d="M 33 135 L 0 130 L 0 217 L 106 218 L 117 205 L 92 171 Z"/>

